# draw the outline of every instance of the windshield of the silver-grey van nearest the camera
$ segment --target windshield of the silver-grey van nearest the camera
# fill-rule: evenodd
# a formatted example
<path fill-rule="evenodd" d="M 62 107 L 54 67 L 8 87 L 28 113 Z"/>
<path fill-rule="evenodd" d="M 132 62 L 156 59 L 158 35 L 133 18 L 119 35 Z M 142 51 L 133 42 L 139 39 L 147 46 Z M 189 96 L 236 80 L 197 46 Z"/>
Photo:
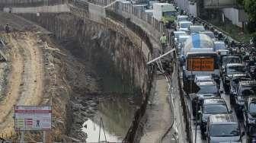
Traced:
<path fill-rule="evenodd" d="M 210 135 L 213 137 L 238 136 L 239 133 L 239 126 L 236 124 L 212 125 L 210 128 Z"/>

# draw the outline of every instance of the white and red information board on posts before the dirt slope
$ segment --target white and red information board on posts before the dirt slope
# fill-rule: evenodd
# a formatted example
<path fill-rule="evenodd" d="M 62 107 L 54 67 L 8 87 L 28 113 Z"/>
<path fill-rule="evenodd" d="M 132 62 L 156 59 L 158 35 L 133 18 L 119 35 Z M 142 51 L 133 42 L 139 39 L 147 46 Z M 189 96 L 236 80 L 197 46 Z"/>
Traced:
<path fill-rule="evenodd" d="M 15 131 L 52 129 L 51 106 L 15 106 Z"/>

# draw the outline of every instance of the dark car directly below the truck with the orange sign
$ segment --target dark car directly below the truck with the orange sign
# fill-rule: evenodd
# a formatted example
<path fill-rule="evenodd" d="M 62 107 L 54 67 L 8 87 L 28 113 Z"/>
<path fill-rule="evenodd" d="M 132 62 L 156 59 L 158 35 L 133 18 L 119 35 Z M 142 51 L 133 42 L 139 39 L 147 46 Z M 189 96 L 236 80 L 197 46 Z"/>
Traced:
<path fill-rule="evenodd" d="M 220 97 L 219 88 L 214 81 L 197 82 L 197 86 L 200 90 L 196 94 L 189 94 L 192 99 L 193 116 L 197 115 L 204 99 Z"/>

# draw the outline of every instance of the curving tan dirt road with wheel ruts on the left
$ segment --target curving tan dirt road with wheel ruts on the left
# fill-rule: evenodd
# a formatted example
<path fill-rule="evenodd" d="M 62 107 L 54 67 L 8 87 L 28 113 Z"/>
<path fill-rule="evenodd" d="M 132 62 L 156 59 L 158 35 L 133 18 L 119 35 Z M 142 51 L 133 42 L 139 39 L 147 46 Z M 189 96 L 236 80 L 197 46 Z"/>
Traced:
<path fill-rule="evenodd" d="M 0 134 L 14 132 L 14 105 L 38 105 L 43 93 L 43 56 L 35 33 L 1 34 L 10 49 L 11 71 L 0 102 Z"/>

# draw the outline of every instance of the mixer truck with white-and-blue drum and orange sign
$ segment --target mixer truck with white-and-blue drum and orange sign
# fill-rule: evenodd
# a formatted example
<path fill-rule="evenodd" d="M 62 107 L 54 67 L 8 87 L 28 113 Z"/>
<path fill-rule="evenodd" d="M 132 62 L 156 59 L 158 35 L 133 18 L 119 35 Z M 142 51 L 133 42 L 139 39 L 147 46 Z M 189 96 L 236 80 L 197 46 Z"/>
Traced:
<path fill-rule="evenodd" d="M 197 75 L 211 75 L 219 80 L 219 60 L 213 40 L 203 33 L 192 33 L 184 43 L 184 81 L 194 81 Z"/>

